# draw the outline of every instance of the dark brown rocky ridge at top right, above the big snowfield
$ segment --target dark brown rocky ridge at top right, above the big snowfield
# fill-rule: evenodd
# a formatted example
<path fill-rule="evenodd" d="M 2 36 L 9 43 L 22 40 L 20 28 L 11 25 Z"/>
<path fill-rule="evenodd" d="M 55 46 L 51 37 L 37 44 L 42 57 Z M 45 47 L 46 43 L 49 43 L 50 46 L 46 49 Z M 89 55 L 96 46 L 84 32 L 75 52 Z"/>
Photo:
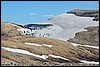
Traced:
<path fill-rule="evenodd" d="M 99 10 L 71 10 L 67 13 L 73 13 L 81 17 L 95 17 L 94 21 L 99 21 Z"/>

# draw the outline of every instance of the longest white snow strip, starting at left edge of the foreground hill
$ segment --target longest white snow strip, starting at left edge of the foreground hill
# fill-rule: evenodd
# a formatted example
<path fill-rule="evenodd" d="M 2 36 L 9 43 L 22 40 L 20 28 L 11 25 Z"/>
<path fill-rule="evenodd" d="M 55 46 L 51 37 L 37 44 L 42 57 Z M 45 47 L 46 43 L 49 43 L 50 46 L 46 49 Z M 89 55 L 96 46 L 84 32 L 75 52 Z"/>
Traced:
<path fill-rule="evenodd" d="M 14 53 L 27 54 L 27 55 L 35 56 L 35 57 L 42 58 L 42 59 L 48 58 L 48 56 L 46 56 L 46 55 L 40 56 L 40 55 L 36 55 L 34 53 L 30 53 L 29 51 L 22 50 L 22 49 L 14 49 L 14 48 L 8 48 L 8 47 L 1 47 L 1 48 L 4 49 L 4 50 L 7 50 L 7 51 L 14 52 Z"/>

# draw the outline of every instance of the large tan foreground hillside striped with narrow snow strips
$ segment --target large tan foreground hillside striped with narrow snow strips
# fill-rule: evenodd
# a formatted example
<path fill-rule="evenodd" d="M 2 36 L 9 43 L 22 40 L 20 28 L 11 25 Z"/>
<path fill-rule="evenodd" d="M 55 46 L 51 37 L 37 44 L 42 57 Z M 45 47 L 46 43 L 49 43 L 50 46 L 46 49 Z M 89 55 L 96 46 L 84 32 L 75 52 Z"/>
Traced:
<path fill-rule="evenodd" d="M 33 43 L 33 44 L 32 44 Z M 99 61 L 99 56 L 68 42 L 44 37 L 6 37 L 1 40 L 1 61 L 8 64 L 46 64 Z M 19 51 L 19 52 L 18 52 Z M 78 64 L 77 64 L 78 65 Z M 55 66 L 55 65 L 54 65 Z"/>

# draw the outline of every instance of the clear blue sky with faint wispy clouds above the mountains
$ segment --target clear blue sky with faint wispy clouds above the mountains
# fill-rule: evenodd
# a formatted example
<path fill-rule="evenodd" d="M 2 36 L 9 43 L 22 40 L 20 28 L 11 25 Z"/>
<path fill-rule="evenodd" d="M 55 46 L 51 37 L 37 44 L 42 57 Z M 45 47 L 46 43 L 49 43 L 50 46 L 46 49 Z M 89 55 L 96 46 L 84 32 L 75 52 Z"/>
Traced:
<path fill-rule="evenodd" d="M 73 9 L 98 10 L 99 1 L 1 1 L 1 22 L 39 23 Z"/>

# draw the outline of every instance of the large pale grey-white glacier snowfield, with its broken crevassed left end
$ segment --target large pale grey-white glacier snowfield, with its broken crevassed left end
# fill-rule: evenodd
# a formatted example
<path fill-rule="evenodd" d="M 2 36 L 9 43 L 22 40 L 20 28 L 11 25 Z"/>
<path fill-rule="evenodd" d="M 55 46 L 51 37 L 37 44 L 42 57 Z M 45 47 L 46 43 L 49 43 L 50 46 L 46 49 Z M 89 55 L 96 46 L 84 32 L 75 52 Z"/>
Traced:
<path fill-rule="evenodd" d="M 18 29 L 25 34 L 37 37 L 49 37 L 60 40 L 68 40 L 73 38 L 75 33 L 80 31 L 86 31 L 84 28 L 89 26 L 99 26 L 99 21 L 93 21 L 93 17 L 79 17 L 74 14 L 60 14 L 50 18 L 47 21 L 37 24 L 52 24 L 42 29 L 30 30 L 30 29 Z"/>

